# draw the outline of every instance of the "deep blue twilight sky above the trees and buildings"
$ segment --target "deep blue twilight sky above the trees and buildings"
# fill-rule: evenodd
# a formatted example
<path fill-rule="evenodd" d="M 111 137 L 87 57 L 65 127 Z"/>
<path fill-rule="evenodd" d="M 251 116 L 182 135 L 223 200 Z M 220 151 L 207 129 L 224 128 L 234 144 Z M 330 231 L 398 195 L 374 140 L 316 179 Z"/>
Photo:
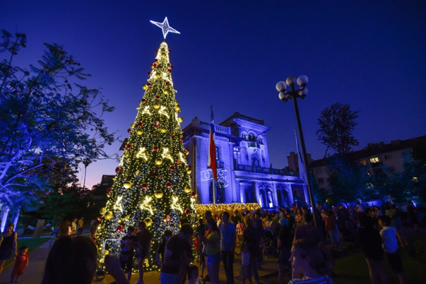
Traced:
<path fill-rule="evenodd" d="M 134 122 L 162 22 L 169 33 L 172 78 L 181 116 L 215 122 L 240 112 L 264 119 L 273 167 L 295 151 L 292 102 L 280 102 L 275 85 L 307 75 L 309 93 L 299 100 L 307 152 L 325 146 L 316 138 L 321 110 L 334 102 L 360 110 L 355 137 L 367 143 L 426 134 L 426 2 L 418 1 L 31 1 L 3 0 L 0 29 L 23 32 L 28 47 L 15 64 L 35 64 L 43 42 L 63 45 L 92 74 L 83 82 L 102 88 L 116 107 L 105 117 L 122 139 Z M 1 54 L 0 54 L 1 59 Z M 107 153 L 117 153 L 117 141 Z M 118 162 L 89 165 L 86 186 L 114 174 Z M 81 177 L 83 174 L 81 174 Z"/>

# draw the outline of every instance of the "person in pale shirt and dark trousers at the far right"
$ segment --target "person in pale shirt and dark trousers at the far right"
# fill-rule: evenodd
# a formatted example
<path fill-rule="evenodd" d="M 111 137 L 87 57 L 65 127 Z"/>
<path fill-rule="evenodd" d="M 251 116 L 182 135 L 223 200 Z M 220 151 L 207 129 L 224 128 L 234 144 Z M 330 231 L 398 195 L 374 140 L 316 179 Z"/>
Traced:
<path fill-rule="evenodd" d="M 388 215 L 379 216 L 379 226 L 381 242 L 384 252 L 388 257 L 392 270 L 398 275 L 399 283 L 407 283 L 406 276 L 403 271 L 401 252 L 398 249 L 398 241 L 396 239 L 395 227 L 390 227 L 391 218 Z"/>

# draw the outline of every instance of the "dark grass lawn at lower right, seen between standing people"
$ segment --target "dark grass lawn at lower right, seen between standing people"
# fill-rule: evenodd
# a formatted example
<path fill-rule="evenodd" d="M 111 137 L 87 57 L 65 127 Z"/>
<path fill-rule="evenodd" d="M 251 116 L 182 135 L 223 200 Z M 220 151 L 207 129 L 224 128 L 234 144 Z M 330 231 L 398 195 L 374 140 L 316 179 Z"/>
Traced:
<path fill-rule="evenodd" d="M 401 248 L 400 248 L 401 249 Z M 408 283 L 420 284 L 425 283 L 426 268 L 425 264 L 413 259 L 408 254 L 409 247 L 402 248 L 401 255 L 403 259 L 403 268 L 406 273 Z M 386 275 L 388 276 L 389 284 L 399 283 L 398 276 L 391 271 L 389 261 L 384 260 Z M 362 252 L 357 252 L 349 256 L 344 256 L 336 260 L 336 266 L 333 268 L 335 275 L 333 281 L 336 284 L 365 284 L 371 283 L 369 280 L 368 266 Z"/>

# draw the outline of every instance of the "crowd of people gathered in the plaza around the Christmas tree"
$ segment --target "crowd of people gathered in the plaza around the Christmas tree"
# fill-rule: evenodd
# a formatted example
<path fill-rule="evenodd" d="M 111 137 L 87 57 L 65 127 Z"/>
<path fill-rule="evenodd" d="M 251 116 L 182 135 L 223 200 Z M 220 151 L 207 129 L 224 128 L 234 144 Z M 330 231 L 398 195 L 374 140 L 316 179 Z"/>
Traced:
<path fill-rule="evenodd" d="M 259 283 L 258 271 L 265 256 L 278 256 L 279 283 L 329 283 L 334 259 L 331 249 L 341 249 L 344 242 L 355 242 L 362 249 L 371 282 L 387 283 L 384 257 L 406 283 L 400 247 L 408 244 L 401 230 L 410 221 L 417 232 L 418 213 L 412 203 L 398 208 L 393 201 L 377 206 L 331 206 L 320 203 L 314 208 L 314 220 L 307 207 L 279 208 L 278 211 L 226 211 L 213 215 L 206 211 L 194 227 L 182 219 L 179 232 L 165 230 L 155 248 L 162 284 L 219 284 L 223 265 L 227 284 L 235 283 L 235 256 L 241 262 L 242 283 Z M 404 213 L 406 212 L 406 213 Z M 97 246 L 83 233 L 83 218 L 59 226 L 57 241 L 47 258 L 43 284 L 90 283 L 97 271 Z M 117 284 L 131 280 L 134 259 L 138 263 L 138 282 L 143 282 L 143 266 L 150 254 L 152 235 L 144 221 L 126 228 L 120 242 L 119 256 L 105 256 L 105 268 Z M 329 248 L 326 244 L 331 244 Z M 28 266 L 28 247 L 18 249 L 13 223 L 6 226 L 0 244 L 0 273 L 4 261 L 16 259 L 11 281 L 18 280 Z M 196 265 L 198 263 L 198 266 Z M 200 266 L 200 267 L 199 267 Z M 201 277 L 200 276 L 201 271 Z M 290 280 L 289 280 L 290 279 Z M 188 282 L 187 282 L 188 281 Z"/>

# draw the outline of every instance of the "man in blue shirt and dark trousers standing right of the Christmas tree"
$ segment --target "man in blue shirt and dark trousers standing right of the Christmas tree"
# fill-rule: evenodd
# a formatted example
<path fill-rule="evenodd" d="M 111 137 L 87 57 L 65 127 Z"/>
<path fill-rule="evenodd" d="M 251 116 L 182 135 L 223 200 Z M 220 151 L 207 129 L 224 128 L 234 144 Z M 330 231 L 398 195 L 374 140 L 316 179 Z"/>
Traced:
<path fill-rule="evenodd" d="M 230 213 L 222 213 L 222 222 L 219 224 L 220 254 L 223 268 L 225 268 L 226 283 L 234 284 L 234 249 L 235 249 L 235 225 L 230 223 Z"/>

